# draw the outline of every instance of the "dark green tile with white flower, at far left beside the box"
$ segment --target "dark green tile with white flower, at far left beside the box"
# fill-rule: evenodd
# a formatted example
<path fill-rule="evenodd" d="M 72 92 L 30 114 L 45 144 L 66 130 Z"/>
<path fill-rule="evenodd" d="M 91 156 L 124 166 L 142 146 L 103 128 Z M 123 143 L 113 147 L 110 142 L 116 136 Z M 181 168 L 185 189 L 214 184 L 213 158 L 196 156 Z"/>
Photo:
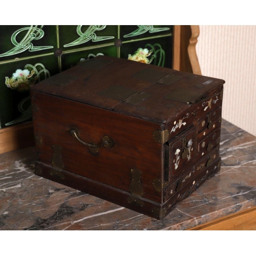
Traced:
<path fill-rule="evenodd" d="M 33 70 L 33 67 L 36 68 L 38 73 L 35 72 L 34 75 L 31 76 L 31 71 Z M 26 71 L 24 71 L 25 69 L 28 69 L 29 73 L 26 73 Z M 16 70 L 21 71 L 16 72 Z M 30 106 L 30 100 L 28 98 L 30 92 L 29 90 L 24 89 L 29 89 L 34 81 L 39 81 L 39 79 L 35 79 L 36 74 L 38 74 L 40 80 L 47 78 L 48 72 L 46 70 L 49 71 L 50 75 L 58 73 L 59 69 L 57 57 L 51 55 L 45 57 L 31 58 L 28 60 L 4 63 L 0 65 L 0 126 L 2 128 L 5 127 L 7 123 L 12 122 L 16 118 L 19 118 L 21 116 L 28 116 L 26 110 L 28 110 L 28 107 Z M 42 72 L 39 73 L 40 71 Z M 10 79 L 13 77 L 13 73 L 16 73 L 17 77 L 20 75 L 23 79 L 18 80 L 18 78 L 15 78 L 16 83 L 11 82 Z M 25 73 L 26 75 L 22 76 L 22 74 Z M 6 83 L 8 82 L 6 81 L 6 77 L 10 78 L 9 86 L 16 89 L 11 89 L 7 87 Z M 31 119 L 22 120 L 20 122 L 29 120 Z M 18 124 L 20 122 L 13 124 Z"/>

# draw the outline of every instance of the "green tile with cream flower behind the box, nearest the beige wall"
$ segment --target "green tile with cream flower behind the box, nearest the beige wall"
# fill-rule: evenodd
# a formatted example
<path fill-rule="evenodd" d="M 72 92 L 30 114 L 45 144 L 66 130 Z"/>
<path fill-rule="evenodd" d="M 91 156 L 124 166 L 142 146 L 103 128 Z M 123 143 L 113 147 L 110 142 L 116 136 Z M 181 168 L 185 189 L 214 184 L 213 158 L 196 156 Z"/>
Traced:
<path fill-rule="evenodd" d="M 143 51 L 138 51 L 139 48 Z M 172 36 L 124 43 L 120 57 L 172 68 Z"/>

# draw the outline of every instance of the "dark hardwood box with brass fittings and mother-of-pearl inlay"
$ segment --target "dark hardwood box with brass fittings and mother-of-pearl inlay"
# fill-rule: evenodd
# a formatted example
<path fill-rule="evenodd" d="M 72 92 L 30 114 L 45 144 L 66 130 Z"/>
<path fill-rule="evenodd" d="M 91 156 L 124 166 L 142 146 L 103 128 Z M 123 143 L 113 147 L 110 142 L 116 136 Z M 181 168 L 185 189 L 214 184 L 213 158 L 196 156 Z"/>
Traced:
<path fill-rule="evenodd" d="M 35 172 L 162 219 L 220 169 L 224 82 L 98 56 L 34 84 Z"/>

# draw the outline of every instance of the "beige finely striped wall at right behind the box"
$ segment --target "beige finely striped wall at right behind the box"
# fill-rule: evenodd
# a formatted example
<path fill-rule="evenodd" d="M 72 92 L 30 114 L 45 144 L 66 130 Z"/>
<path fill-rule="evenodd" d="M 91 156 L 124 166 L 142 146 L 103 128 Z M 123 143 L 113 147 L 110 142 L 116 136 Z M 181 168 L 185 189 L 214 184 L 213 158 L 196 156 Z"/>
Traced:
<path fill-rule="evenodd" d="M 203 75 L 222 78 L 222 117 L 256 136 L 256 26 L 201 26 Z"/>

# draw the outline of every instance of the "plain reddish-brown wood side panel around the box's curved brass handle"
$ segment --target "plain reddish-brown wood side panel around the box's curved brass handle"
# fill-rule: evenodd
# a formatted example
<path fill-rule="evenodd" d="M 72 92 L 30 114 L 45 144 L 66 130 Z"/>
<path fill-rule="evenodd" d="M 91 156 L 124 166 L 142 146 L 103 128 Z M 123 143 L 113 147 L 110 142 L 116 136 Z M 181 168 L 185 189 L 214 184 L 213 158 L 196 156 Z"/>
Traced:
<path fill-rule="evenodd" d="M 34 129 L 42 140 L 37 145 L 38 161 L 51 166 L 52 145 L 59 145 L 63 169 L 126 192 L 130 192 L 131 168 L 137 168 L 142 172 L 143 197 L 161 203 L 161 193 L 152 185 L 153 179 L 163 177 L 163 145 L 152 135 L 159 124 L 38 92 L 33 95 L 38 106 Z M 70 126 L 77 127 L 87 143 L 100 145 L 102 137 L 109 136 L 114 146 L 101 146 L 93 154 L 70 135 Z"/>

